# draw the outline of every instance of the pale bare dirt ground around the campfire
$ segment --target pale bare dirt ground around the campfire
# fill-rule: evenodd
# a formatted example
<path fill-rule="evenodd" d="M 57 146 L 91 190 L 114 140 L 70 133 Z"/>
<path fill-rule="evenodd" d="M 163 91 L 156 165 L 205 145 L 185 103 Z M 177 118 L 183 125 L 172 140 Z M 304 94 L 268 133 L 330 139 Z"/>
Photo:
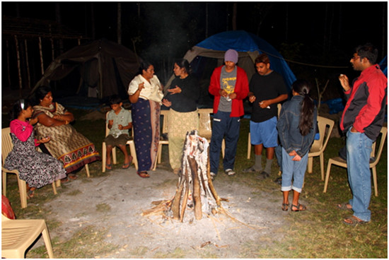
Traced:
<path fill-rule="evenodd" d="M 173 172 L 158 167 L 150 175 L 141 179 L 132 166 L 62 184 L 66 189 L 43 205 L 49 212 L 47 220 L 62 223 L 50 230 L 52 240 L 69 240 L 77 230 L 94 225 L 107 231 L 105 242 L 118 247 L 113 254 L 95 258 L 166 258 L 177 249 L 185 252 L 184 258 L 244 258 L 248 244 L 283 238 L 283 216 L 291 212 L 281 211 L 281 192 L 269 196 L 231 182 L 238 175 L 218 176 L 214 186 L 221 198 L 228 199 L 222 206 L 232 218 L 218 213 L 195 220 L 186 211 L 187 218 L 180 223 L 161 215 L 141 215 L 153 201 L 172 199 L 178 181 Z"/>

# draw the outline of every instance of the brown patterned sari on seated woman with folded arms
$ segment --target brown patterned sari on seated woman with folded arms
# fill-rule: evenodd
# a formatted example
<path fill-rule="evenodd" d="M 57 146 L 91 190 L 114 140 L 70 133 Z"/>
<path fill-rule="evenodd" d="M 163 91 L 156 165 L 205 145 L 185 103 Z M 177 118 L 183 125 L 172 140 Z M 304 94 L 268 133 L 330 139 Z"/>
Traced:
<path fill-rule="evenodd" d="M 53 117 L 55 114 L 64 114 L 66 110 L 58 103 L 52 103 L 50 107 L 34 106 L 33 118 L 39 114 Z M 37 123 L 34 126 L 36 138 L 50 136 L 51 140 L 45 143 L 45 148 L 54 157 L 64 164 L 67 173 L 77 170 L 83 165 L 100 160 L 100 155 L 85 136 L 80 134 L 70 124 L 48 127 Z"/>

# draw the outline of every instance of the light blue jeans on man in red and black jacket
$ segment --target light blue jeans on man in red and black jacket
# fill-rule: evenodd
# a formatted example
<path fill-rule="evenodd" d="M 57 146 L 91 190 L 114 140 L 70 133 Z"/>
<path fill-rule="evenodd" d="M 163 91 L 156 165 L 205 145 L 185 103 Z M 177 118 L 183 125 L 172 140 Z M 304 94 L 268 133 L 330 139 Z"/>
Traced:
<path fill-rule="evenodd" d="M 350 128 L 351 129 L 351 128 Z M 370 153 L 373 140 L 364 133 L 347 131 L 347 174 L 349 176 L 352 199 L 349 203 L 354 216 L 370 221 L 371 211 L 368 205 L 371 199 Z"/>

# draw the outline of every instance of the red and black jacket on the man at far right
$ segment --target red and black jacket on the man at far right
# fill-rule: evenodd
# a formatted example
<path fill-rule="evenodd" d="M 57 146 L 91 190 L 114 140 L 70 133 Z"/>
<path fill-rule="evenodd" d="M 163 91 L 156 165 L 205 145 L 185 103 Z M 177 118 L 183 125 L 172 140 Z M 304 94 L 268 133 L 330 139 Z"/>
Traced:
<path fill-rule="evenodd" d="M 364 69 L 352 88 L 345 92 L 347 103 L 340 120 L 340 129 L 346 132 L 354 126 L 356 131 L 376 141 L 385 119 L 387 88 L 388 79 L 378 65 Z"/>

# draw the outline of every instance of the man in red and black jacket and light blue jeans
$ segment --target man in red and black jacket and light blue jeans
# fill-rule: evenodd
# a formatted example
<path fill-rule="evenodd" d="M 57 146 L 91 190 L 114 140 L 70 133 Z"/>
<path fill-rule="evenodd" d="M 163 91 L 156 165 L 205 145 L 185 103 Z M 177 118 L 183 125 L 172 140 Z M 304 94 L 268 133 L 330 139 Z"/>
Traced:
<path fill-rule="evenodd" d="M 339 81 L 347 97 L 340 128 L 347 133 L 347 174 L 352 199 L 338 207 L 354 211 L 343 220 L 347 225 L 368 223 L 371 198 L 371 173 L 369 167 L 371 145 L 380 134 L 385 119 L 388 79 L 376 64 L 378 50 L 371 44 L 356 47 L 350 60 L 355 71 L 361 75 L 349 84 L 341 74 Z"/>

